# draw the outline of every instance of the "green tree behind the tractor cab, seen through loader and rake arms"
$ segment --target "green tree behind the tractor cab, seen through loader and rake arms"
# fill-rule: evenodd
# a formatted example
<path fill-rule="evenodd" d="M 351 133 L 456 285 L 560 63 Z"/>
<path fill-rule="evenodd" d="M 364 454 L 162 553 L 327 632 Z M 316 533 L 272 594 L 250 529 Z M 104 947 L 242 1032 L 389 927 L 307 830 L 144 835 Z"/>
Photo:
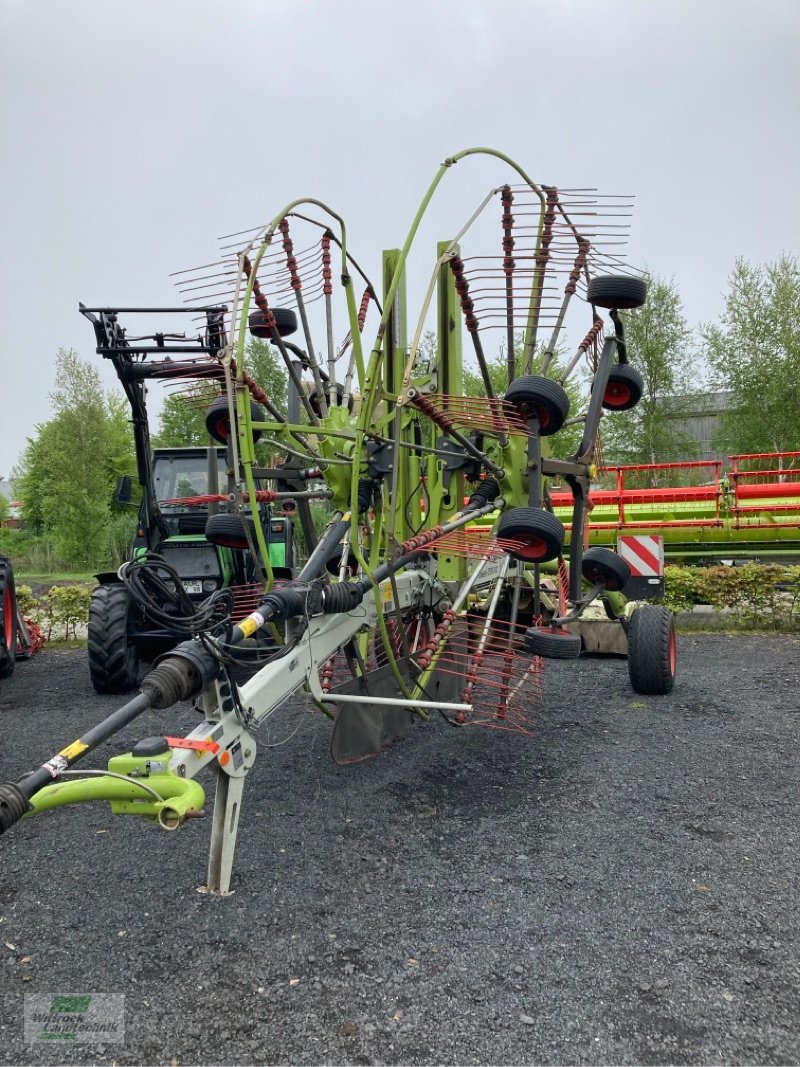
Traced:
<path fill-rule="evenodd" d="M 266 340 L 252 337 L 245 349 L 244 368 L 285 415 L 288 376 L 275 349 Z M 207 445 L 206 411 L 219 395 L 219 387 L 210 382 L 190 382 L 180 393 L 171 393 L 161 408 L 154 445 L 157 448 Z"/>

